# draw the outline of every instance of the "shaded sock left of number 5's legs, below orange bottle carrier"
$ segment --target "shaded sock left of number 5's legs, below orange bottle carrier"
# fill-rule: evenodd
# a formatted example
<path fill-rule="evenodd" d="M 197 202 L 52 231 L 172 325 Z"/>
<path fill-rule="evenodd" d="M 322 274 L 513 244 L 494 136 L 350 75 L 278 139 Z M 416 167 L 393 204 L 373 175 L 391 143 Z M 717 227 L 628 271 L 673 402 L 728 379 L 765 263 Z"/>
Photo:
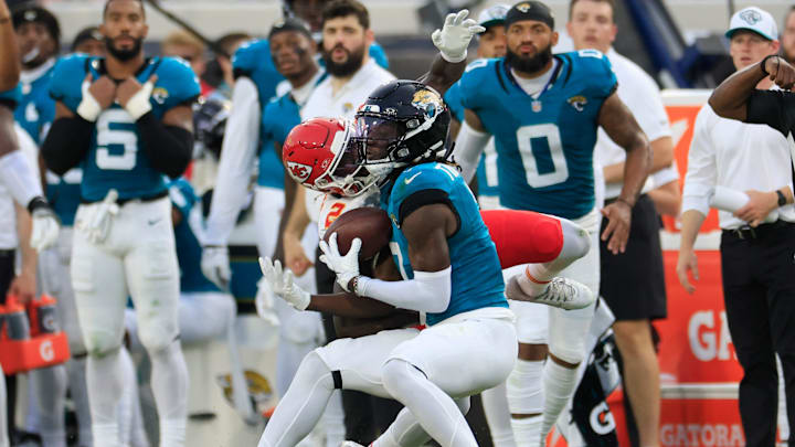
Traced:
<path fill-rule="evenodd" d="M 36 394 L 39 435 L 43 447 L 66 447 L 64 406 L 66 401 L 66 369 L 63 365 L 36 370 L 28 375 Z"/>

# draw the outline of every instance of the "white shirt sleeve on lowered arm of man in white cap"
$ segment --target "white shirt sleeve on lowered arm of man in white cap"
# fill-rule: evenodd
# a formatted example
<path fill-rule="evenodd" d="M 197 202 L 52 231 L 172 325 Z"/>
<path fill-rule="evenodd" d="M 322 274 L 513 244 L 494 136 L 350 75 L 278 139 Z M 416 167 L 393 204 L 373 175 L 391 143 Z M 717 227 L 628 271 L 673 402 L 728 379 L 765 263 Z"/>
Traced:
<path fill-rule="evenodd" d="M 685 175 L 681 212 L 696 210 L 709 214 L 709 198 L 718 179 L 716 149 L 710 138 L 711 115 L 709 105 L 704 106 L 696 118 L 693 139 L 688 153 L 688 170 Z"/>

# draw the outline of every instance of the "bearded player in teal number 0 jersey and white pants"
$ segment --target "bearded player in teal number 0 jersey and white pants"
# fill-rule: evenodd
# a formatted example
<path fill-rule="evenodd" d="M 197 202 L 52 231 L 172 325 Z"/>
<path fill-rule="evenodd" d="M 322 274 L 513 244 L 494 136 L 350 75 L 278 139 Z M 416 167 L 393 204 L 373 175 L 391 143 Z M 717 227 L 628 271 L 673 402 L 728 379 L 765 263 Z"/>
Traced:
<path fill-rule="evenodd" d="M 593 149 L 596 129 L 602 126 L 627 150 L 624 190 L 615 203 L 602 210 L 610 221 L 602 238 L 610 240 L 608 249 L 623 252 L 630 211 L 648 173 L 650 150 L 615 94 L 610 62 L 593 50 L 553 56 L 551 47 L 558 41 L 554 19 L 539 1 L 513 6 L 505 25 L 506 57 L 474 62 L 459 81 L 466 111 L 456 140 L 456 160 L 464 177 L 473 175 L 477 157 L 494 136 L 500 204 L 572 220 L 589 231 L 594 238 L 591 246 L 597 247 Z M 583 283 L 595 295 L 598 272 L 594 248 L 563 272 L 544 264 L 530 265 L 526 270 L 530 279 L 527 292 L 534 295 L 560 274 Z M 522 430 L 527 436 L 517 435 L 516 440 L 519 446 L 538 446 L 574 391 L 593 308 L 561 311 L 524 304 L 512 308 L 518 316 L 519 363 L 539 365 L 526 371 L 527 376 L 538 380 L 543 375 L 543 402 L 540 385 L 524 390 L 526 395 L 533 396 L 532 402 L 522 402 L 513 413 L 515 419 L 524 419 L 522 425 L 527 426 Z M 532 331 L 540 326 L 539 311 L 549 312 L 548 336 Z M 551 361 L 541 366 L 547 340 Z"/>

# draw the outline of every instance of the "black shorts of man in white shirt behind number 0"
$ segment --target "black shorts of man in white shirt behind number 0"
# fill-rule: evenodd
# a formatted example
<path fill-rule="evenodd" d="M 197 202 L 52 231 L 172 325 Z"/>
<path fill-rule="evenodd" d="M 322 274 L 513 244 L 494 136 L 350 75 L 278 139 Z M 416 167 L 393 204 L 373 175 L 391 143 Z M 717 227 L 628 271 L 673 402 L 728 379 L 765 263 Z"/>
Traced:
<path fill-rule="evenodd" d="M 602 231 L 606 226 L 607 220 L 603 219 Z M 633 209 L 626 252 L 614 255 L 607 251 L 607 242 L 600 242 L 600 294 L 617 321 L 654 320 L 668 313 L 659 231 L 657 210 L 644 194 Z"/>

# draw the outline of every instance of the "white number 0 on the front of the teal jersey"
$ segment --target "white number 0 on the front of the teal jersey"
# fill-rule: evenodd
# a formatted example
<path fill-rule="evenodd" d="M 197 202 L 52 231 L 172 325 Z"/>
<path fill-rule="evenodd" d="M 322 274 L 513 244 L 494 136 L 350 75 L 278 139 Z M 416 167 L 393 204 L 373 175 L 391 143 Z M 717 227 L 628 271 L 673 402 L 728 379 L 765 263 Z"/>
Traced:
<path fill-rule="evenodd" d="M 558 126 L 542 124 L 520 127 L 517 130 L 517 142 L 529 185 L 545 188 L 563 183 L 569 179 L 569 166 L 563 155 Z M 539 157 L 551 159 L 554 169 L 544 173 L 539 172 Z"/>

